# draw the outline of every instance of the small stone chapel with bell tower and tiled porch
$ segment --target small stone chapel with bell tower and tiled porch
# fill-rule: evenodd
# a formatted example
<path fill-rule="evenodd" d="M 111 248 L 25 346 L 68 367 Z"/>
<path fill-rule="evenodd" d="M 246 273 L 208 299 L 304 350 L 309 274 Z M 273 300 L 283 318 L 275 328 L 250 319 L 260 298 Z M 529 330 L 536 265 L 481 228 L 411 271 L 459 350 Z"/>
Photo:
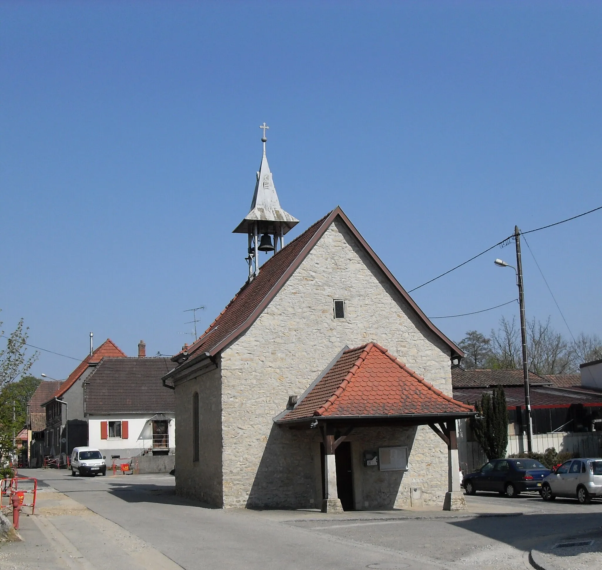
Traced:
<path fill-rule="evenodd" d="M 451 397 L 461 349 L 340 207 L 284 247 L 297 220 L 262 140 L 235 230 L 248 235 L 249 278 L 163 379 L 176 492 L 219 507 L 460 508 L 456 420 L 474 414 Z M 258 251 L 274 251 L 261 268 Z"/>

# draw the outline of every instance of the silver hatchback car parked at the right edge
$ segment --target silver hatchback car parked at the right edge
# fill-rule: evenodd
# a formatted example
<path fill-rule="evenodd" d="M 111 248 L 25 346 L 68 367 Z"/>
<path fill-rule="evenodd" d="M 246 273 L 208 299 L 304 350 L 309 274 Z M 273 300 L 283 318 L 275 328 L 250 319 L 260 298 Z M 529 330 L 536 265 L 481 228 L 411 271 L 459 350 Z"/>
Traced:
<path fill-rule="evenodd" d="M 545 477 L 541 485 L 544 501 L 576 497 L 581 504 L 602 497 L 602 459 L 569 459 Z"/>

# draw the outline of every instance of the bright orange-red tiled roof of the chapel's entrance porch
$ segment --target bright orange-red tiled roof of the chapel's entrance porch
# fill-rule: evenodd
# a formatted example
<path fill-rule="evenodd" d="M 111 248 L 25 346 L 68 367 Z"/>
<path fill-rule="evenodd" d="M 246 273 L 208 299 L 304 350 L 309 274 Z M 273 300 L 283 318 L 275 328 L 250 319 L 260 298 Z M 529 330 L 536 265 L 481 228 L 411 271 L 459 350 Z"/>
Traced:
<path fill-rule="evenodd" d="M 313 417 L 470 414 L 376 343 L 349 349 L 278 423 Z"/>

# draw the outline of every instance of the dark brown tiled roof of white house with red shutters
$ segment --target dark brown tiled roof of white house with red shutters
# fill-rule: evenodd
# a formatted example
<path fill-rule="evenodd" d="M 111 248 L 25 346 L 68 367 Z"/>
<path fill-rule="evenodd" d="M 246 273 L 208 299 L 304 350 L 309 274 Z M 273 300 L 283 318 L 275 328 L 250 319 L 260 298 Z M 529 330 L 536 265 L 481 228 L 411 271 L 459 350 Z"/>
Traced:
<path fill-rule="evenodd" d="M 85 411 L 88 414 L 120 412 L 173 412 L 173 390 L 161 377 L 173 369 L 169 358 L 103 358 L 87 378 Z"/>

